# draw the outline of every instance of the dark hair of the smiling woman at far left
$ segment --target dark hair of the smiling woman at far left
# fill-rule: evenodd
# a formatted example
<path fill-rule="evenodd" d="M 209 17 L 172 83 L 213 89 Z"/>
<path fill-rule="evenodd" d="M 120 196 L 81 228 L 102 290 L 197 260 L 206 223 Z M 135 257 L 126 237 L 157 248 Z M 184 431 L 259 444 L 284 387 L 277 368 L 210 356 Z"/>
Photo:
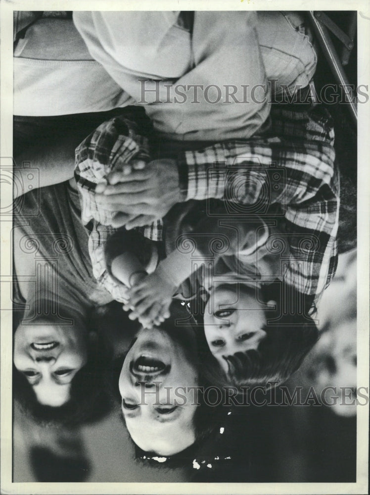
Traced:
<path fill-rule="evenodd" d="M 89 330 L 95 325 L 104 311 L 92 311 Z M 100 332 L 97 339 L 88 342 L 88 361 L 75 375 L 71 384 L 70 400 L 59 407 L 40 404 L 26 377 L 13 364 L 13 398 L 24 414 L 45 426 L 76 426 L 92 423 L 106 416 L 113 407 L 111 380 L 109 377 L 111 349 Z"/>

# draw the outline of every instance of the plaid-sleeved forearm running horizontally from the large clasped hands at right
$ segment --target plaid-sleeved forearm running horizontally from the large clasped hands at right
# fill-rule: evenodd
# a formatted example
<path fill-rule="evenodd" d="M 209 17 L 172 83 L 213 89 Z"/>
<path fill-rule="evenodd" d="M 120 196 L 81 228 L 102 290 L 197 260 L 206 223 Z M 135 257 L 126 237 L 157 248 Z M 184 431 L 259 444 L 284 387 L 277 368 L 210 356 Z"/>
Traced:
<path fill-rule="evenodd" d="M 312 181 L 318 189 L 325 184 L 331 186 L 333 162 L 334 152 L 329 146 L 323 149 L 307 143 L 303 149 L 288 141 L 268 139 L 253 144 L 220 143 L 209 148 L 208 154 L 191 151 L 180 157 L 180 187 L 185 200 L 298 204 L 317 191 L 302 186 Z"/>

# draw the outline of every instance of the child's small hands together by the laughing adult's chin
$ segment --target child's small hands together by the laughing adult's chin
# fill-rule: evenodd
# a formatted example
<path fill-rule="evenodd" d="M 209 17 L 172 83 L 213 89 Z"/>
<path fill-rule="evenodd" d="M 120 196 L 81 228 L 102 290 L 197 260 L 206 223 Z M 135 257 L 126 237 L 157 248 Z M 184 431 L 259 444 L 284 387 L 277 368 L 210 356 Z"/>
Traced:
<path fill-rule="evenodd" d="M 170 316 L 169 307 L 175 291 L 176 287 L 170 282 L 156 272 L 151 273 L 128 291 L 129 300 L 124 309 L 132 310 L 131 320 L 138 318 L 143 326 L 151 328 Z"/>

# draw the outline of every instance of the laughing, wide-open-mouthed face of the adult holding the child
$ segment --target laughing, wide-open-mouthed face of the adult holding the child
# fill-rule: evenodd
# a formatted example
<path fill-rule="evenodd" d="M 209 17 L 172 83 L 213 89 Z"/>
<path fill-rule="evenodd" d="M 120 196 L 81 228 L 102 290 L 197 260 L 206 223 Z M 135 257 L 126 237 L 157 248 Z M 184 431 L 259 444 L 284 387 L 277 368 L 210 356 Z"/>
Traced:
<path fill-rule="evenodd" d="M 160 328 L 141 329 L 122 366 L 122 413 L 132 440 L 159 455 L 181 452 L 195 441 L 198 371 L 192 330 L 175 328 L 181 340 Z M 187 351 L 187 352 L 186 352 Z"/>

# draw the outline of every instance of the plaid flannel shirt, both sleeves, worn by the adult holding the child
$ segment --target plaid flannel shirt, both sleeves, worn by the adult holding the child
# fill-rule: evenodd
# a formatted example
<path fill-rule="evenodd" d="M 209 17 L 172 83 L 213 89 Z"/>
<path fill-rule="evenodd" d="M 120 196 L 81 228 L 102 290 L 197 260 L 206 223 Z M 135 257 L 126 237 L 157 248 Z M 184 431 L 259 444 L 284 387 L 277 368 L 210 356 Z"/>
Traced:
<path fill-rule="evenodd" d="M 265 212 L 271 218 L 275 211 L 289 236 L 284 281 L 317 301 L 337 263 L 339 177 L 331 118 L 320 107 L 306 111 L 280 104 L 272 109 L 271 120 L 268 135 L 179 153 L 180 186 L 185 200 L 224 199 L 231 214 L 263 216 Z M 114 213 L 99 211 L 93 195 L 95 184 L 104 181 L 119 159 L 128 162 L 142 156 L 149 160 L 145 138 L 128 121 L 124 134 L 120 132 L 121 121 L 125 119 L 102 124 L 77 148 L 75 178 L 82 197 L 82 220 L 93 225 L 89 252 L 94 276 L 123 301 L 125 288 L 107 273 L 103 255 L 106 239 L 114 231 L 109 226 Z M 142 232 L 161 240 L 162 223 Z"/>

